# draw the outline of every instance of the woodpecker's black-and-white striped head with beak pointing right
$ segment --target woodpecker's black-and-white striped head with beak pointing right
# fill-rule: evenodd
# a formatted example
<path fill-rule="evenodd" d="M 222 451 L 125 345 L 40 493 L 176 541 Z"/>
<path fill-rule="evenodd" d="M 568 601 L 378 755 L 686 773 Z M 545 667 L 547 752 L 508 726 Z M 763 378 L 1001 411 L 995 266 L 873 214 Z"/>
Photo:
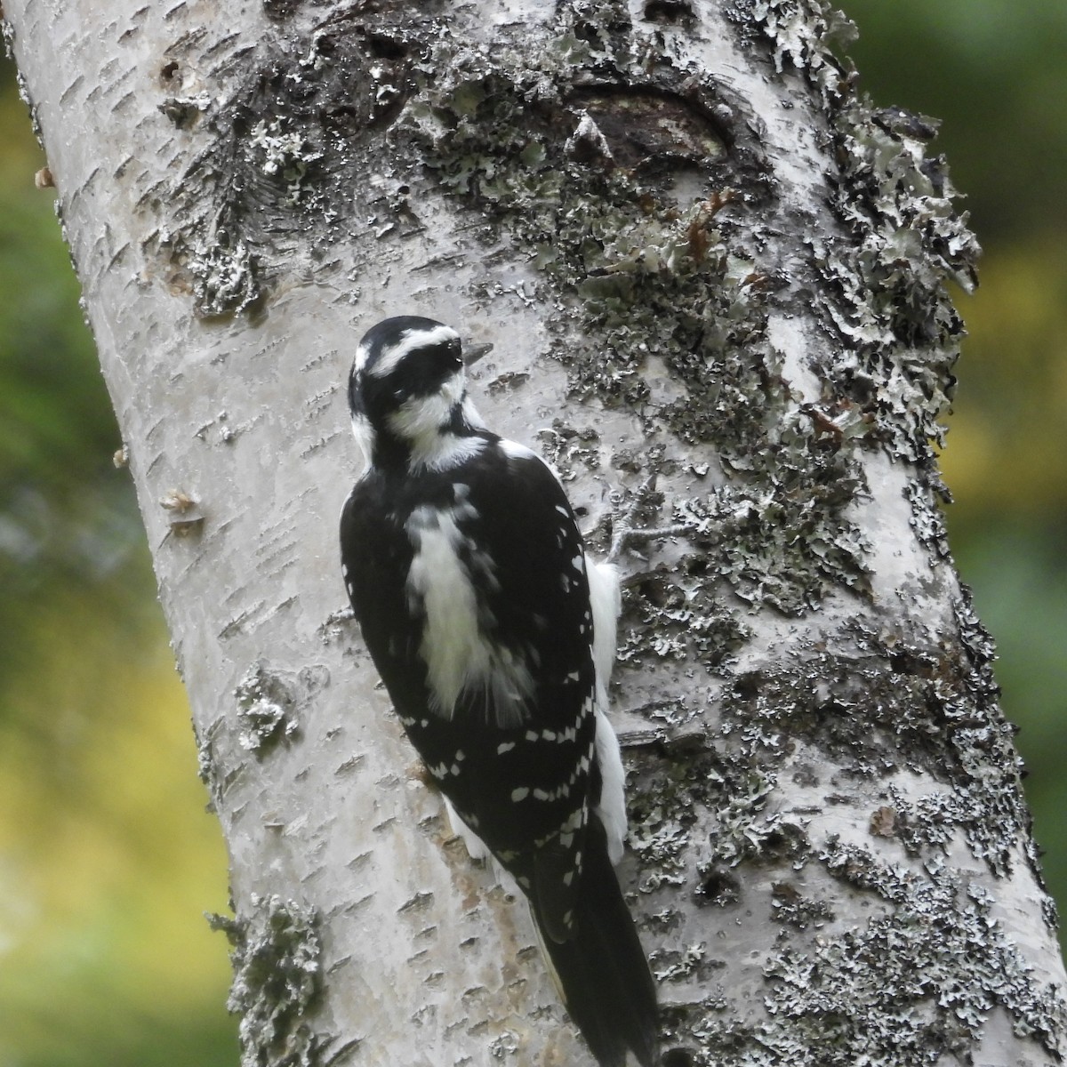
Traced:
<path fill-rule="evenodd" d="M 464 359 L 459 334 L 433 319 L 403 315 L 371 327 L 348 380 L 352 429 L 371 462 L 445 465 L 458 439 L 482 429 L 464 365 L 485 351 Z"/>

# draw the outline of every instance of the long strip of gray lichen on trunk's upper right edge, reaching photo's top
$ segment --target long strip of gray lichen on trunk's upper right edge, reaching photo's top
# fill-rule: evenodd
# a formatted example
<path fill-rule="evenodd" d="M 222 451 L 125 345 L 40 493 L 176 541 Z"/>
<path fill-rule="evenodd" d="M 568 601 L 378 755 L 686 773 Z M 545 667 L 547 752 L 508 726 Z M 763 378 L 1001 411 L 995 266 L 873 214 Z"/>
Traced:
<path fill-rule="evenodd" d="M 779 71 L 808 80 L 833 138 L 831 206 L 845 233 L 812 251 L 839 344 L 817 370 L 866 417 L 871 442 L 933 466 L 964 333 L 946 283 L 970 290 L 980 252 L 943 158 L 927 153 L 937 124 L 856 93 L 833 51 L 855 28 L 825 0 L 737 0 L 732 12 L 743 32 L 769 39 Z"/>

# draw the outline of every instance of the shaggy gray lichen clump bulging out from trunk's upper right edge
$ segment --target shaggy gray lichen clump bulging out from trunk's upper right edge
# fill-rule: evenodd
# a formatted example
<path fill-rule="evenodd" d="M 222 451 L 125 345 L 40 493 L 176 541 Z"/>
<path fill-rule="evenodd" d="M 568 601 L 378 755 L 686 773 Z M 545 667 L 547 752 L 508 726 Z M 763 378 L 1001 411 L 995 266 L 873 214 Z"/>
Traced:
<path fill-rule="evenodd" d="M 944 161 L 926 156 L 936 127 L 855 100 L 835 118 L 833 204 L 849 237 L 817 255 L 839 293 L 834 322 L 851 359 L 835 359 L 827 377 L 872 415 L 872 435 L 892 455 L 933 464 L 964 335 L 946 283 L 973 286 L 977 244 Z"/>

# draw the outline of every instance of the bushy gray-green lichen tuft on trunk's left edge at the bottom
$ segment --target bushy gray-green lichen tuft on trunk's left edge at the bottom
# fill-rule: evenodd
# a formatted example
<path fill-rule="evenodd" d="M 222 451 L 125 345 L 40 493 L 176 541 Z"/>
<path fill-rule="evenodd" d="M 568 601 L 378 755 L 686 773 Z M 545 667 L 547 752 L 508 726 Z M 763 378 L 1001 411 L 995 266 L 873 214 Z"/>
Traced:
<path fill-rule="evenodd" d="M 319 920 L 296 901 L 252 894 L 248 915 L 211 915 L 233 952 L 226 1006 L 241 1017 L 241 1067 L 317 1067 L 322 1041 L 308 1015 L 319 998 Z"/>

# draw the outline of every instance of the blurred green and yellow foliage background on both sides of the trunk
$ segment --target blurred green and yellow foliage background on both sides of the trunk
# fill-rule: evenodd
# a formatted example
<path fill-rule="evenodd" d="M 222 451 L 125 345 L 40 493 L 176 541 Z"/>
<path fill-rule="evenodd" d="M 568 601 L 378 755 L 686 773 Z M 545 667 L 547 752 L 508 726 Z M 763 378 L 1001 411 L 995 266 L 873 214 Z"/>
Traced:
<path fill-rule="evenodd" d="M 861 89 L 943 120 L 986 251 L 949 526 L 1067 902 L 1067 4 L 844 9 Z M 202 914 L 226 910 L 225 853 L 43 165 L 0 62 L 0 1065 L 236 1067 Z"/>

